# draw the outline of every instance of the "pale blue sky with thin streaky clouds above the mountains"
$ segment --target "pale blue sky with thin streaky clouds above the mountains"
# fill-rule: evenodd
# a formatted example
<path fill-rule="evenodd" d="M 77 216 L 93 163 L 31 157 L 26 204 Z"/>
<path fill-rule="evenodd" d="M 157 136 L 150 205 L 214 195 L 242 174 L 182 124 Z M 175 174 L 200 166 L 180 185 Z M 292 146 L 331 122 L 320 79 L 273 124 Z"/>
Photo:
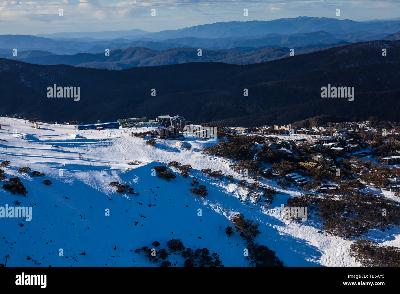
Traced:
<path fill-rule="evenodd" d="M 243 10 L 248 9 L 248 16 Z M 340 16 L 336 16 L 336 9 Z M 59 10 L 63 9 L 63 16 Z M 151 16 L 155 9 L 156 16 Z M 397 18 L 400 0 L 0 0 L 0 34 L 174 30 L 214 22 L 315 16 Z"/>

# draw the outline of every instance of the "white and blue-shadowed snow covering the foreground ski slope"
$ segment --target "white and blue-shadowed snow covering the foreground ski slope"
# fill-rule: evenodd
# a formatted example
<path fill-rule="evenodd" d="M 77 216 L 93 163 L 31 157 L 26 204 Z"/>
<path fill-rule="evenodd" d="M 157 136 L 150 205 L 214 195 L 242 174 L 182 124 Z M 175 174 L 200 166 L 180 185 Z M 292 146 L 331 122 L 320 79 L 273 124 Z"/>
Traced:
<path fill-rule="evenodd" d="M 0 206 L 15 206 L 18 200 L 20 206 L 33 207 L 30 222 L 0 218 L 0 262 L 9 254 L 7 266 L 154 266 L 134 250 L 152 248 L 154 241 L 161 243 L 159 248 L 168 249 L 166 242 L 173 238 L 182 239 L 185 247 L 217 252 L 225 266 L 249 266 L 239 234 L 236 230 L 230 237 L 225 234 L 227 226 L 234 228 L 230 219 L 237 213 L 260 224 L 256 242 L 274 250 L 285 266 L 359 266 L 348 254 L 354 240 L 326 234 L 321 220 L 310 210 L 311 217 L 301 223 L 283 218 L 281 205 L 305 193 L 300 188 L 282 188 L 277 180 L 262 180 L 282 193 L 265 208 L 254 204 L 243 187 L 226 178 L 210 180 L 202 173 L 201 169 L 211 168 L 234 175 L 235 183 L 244 179 L 253 182 L 232 171 L 232 160 L 202 154 L 204 147 L 218 140 L 157 139 L 152 147 L 146 144 L 149 138 L 132 137 L 129 129 L 109 130 L 110 136 L 106 136 L 106 130 L 78 131 L 71 125 L 39 123 L 36 130 L 26 120 L 1 118 L 1 123 L 0 161 L 11 162 L 2 169 L 7 178 L 20 177 L 28 194 L 25 198 L 0 187 Z M 185 148 L 188 145 L 190 150 Z M 130 165 L 134 160 L 140 163 Z M 176 179 L 167 182 L 152 175 L 154 166 L 171 161 L 190 164 L 189 177 L 175 173 Z M 46 176 L 20 174 L 22 166 Z M 193 176 L 207 186 L 204 199 L 189 192 Z M 44 179 L 52 185 L 42 184 Z M 109 186 L 113 181 L 130 185 L 139 195 L 117 194 L 116 188 Z M 106 209 L 110 216 L 105 215 Z M 202 216 L 198 216 L 198 209 Z M 396 227 L 390 235 L 372 230 L 363 238 L 400 246 Z M 64 256 L 59 255 L 61 248 Z M 178 255 L 168 260 L 182 264 Z"/>

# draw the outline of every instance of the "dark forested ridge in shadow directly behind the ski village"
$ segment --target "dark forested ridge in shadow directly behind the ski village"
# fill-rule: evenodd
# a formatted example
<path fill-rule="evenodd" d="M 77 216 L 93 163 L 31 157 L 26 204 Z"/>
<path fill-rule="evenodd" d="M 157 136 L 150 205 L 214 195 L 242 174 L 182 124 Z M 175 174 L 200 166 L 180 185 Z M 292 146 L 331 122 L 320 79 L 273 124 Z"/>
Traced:
<path fill-rule="evenodd" d="M 226 126 L 283 124 L 324 114 L 396 120 L 399 78 L 400 41 L 384 40 L 248 65 L 191 62 L 110 71 L 0 59 L 0 113 L 85 123 L 179 114 Z M 80 86 L 80 101 L 48 98 L 54 84 Z M 354 87 L 354 101 L 321 98 L 321 87 L 328 84 Z"/>

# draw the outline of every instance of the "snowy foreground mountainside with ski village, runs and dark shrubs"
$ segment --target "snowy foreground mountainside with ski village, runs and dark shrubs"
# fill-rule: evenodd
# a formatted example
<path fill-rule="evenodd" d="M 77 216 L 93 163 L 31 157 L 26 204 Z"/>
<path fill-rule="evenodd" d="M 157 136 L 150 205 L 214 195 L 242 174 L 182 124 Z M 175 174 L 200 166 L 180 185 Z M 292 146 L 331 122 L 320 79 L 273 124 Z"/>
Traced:
<path fill-rule="evenodd" d="M 395 265 L 400 125 L 321 120 L 0 117 L 0 266 Z"/>

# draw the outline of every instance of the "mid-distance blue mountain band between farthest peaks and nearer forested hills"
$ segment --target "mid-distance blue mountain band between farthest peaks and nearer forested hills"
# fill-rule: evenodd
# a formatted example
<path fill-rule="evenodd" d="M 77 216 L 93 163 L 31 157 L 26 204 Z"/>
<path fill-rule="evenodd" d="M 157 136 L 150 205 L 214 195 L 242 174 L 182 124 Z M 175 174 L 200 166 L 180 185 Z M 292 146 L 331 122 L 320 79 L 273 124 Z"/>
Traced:
<path fill-rule="evenodd" d="M 132 47 L 146 47 L 154 50 L 166 50 L 170 48 L 202 48 L 202 49 L 232 49 L 237 47 L 260 48 L 266 46 L 306 46 L 318 44 L 332 44 L 346 41 L 349 43 L 380 40 L 389 34 L 351 33 L 330 34 L 328 32 L 296 33 L 292 35 L 268 34 L 258 37 L 227 37 L 216 39 L 204 39 L 196 37 L 184 37 L 154 41 L 148 38 L 141 40 L 114 39 L 90 42 L 79 42 L 75 40 L 53 40 L 36 36 L 25 35 L 0 35 L 0 48 L 12 54 L 12 49 L 18 51 L 42 50 L 54 54 L 76 54 L 76 53 L 101 53 L 106 48 L 126 49 Z M 257 50 L 257 49 L 255 49 Z M 0 54 L 2 52 L 0 51 Z M 5 56 L 4 56 L 5 57 Z"/>

